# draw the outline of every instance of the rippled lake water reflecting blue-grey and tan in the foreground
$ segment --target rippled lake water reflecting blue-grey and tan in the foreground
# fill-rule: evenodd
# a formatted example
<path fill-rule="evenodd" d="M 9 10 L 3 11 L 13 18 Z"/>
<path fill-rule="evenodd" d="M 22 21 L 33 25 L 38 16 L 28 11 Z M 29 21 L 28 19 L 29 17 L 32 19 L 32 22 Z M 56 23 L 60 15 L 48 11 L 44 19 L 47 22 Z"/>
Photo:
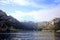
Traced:
<path fill-rule="evenodd" d="M 6 36 L 4 39 L 0 38 L 1 40 L 55 40 L 55 35 L 53 32 L 22 31 L 0 34 L 4 34 L 4 36 Z"/>

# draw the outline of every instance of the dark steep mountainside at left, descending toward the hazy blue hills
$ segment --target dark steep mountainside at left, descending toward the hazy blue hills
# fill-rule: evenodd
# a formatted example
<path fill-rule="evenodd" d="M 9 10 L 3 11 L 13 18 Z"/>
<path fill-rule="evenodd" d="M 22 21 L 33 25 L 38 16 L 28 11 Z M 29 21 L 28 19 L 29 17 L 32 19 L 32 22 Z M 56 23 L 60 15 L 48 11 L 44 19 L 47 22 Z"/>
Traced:
<path fill-rule="evenodd" d="M 11 26 L 18 29 L 23 27 L 23 25 L 18 20 L 16 20 L 12 16 L 6 15 L 5 12 L 0 10 L 0 29 L 7 30 Z"/>

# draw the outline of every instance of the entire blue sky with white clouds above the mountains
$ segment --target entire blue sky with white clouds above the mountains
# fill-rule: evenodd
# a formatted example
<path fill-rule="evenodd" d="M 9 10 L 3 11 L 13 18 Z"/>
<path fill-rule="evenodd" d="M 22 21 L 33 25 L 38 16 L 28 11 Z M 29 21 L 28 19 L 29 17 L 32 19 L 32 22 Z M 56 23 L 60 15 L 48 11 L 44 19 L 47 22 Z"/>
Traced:
<path fill-rule="evenodd" d="M 60 17 L 60 0 L 0 0 L 0 10 L 19 21 L 50 21 Z"/>

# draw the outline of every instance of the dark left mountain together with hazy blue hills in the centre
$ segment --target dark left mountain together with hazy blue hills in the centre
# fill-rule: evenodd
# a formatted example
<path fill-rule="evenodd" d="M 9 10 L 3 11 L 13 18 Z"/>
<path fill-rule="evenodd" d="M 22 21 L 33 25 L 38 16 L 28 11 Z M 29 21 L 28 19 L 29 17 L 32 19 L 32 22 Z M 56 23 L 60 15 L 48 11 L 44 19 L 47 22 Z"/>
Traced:
<path fill-rule="evenodd" d="M 20 22 L 12 16 L 8 16 L 5 12 L 0 10 L 0 28 L 1 29 L 23 29 L 23 30 L 35 30 L 37 25 L 34 22 Z"/>

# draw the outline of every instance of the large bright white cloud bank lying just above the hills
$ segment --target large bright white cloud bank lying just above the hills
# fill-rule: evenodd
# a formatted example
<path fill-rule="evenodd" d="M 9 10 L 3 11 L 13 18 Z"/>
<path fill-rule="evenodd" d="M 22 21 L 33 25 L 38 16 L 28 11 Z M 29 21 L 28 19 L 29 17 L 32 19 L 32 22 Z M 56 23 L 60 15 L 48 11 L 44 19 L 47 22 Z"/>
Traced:
<path fill-rule="evenodd" d="M 13 17 L 18 19 L 19 21 L 49 21 L 52 18 L 55 17 L 60 17 L 60 7 L 54 7 L 54 8 L 49 8 L 49 9 L 42 9 L 42 10 L 37 10 L 37 11 L 31 11 L 31 12 L 22 12 L 22 11 L 15 11 L 14 13 L 11 13 Z M 26 16 L 28 17 L 27 19 Z M 28 20 L 28 19 L 33 19 L 33 20 Z"/>

